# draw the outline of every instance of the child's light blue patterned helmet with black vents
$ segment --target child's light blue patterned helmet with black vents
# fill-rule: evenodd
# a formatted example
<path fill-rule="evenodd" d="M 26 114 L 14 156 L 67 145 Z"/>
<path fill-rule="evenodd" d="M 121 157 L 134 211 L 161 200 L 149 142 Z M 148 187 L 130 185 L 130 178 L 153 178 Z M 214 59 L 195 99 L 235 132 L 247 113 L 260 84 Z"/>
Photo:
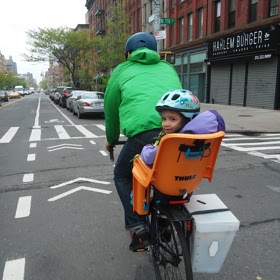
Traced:
<path fill-rule="evenodd" d="M 175 89 L 165 93 L 156 105 L 160 113 L 163 110 L 180 112 L 184 117 L 193 119 L 200 112 L 198 98 L 189 90 Z"/>

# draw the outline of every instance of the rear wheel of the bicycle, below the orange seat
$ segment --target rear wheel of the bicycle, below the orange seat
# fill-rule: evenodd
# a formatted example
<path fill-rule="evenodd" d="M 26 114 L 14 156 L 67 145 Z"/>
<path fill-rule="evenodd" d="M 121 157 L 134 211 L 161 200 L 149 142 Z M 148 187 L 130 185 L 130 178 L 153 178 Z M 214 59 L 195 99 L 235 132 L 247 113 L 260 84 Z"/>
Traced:
<path fill-rule="evenodd" d="M 151 213 L 151 248 L 156 279 L 192 280 L 189 243 L 181 222 Z"/>

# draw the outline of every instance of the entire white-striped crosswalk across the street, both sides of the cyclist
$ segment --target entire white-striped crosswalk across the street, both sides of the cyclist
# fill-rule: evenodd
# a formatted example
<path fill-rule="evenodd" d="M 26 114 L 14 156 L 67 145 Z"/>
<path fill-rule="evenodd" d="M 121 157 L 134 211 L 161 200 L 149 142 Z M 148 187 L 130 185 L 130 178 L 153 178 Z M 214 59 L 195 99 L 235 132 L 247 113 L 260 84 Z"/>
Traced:
<path fill-rule="evenodd" d="M 19 127 L 11 127 L 4 134 L 0 132 L 0 144 L 13 141 L 19 130 Z M 29 142 L 83 138 L 105 138 L 105 126 L 102 124 L 36 126 L 31 130 Z M 280 133 L 250 136 L 228 133 L 223 139 L 222 146 L 280 163 Z"/>

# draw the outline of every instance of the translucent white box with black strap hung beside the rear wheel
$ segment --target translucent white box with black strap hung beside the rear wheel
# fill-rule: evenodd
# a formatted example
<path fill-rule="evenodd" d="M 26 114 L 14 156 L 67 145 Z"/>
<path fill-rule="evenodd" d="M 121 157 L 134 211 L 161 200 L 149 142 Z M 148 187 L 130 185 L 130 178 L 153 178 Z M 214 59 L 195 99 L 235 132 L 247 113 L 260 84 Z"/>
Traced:
<path fill-rule="evenodd" d="M 227 207 L 216 194 L 193 195 L 185 207 L 194 213 L 190 238 L 193 272 L 219 272 L 239 229 L 239 220 L 231 211 L 223 211 Z"/>

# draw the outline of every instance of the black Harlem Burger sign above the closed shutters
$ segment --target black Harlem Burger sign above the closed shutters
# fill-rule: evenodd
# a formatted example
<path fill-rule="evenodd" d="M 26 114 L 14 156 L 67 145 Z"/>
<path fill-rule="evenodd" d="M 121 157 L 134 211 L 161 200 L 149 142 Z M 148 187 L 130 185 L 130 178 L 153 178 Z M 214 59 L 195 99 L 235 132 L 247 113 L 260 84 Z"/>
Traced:
<path fill-rule="evenodd" d="M 274 51 L 279 45 L 279 26 L 244 31 L 209 42 L 208 59 Z"/>

